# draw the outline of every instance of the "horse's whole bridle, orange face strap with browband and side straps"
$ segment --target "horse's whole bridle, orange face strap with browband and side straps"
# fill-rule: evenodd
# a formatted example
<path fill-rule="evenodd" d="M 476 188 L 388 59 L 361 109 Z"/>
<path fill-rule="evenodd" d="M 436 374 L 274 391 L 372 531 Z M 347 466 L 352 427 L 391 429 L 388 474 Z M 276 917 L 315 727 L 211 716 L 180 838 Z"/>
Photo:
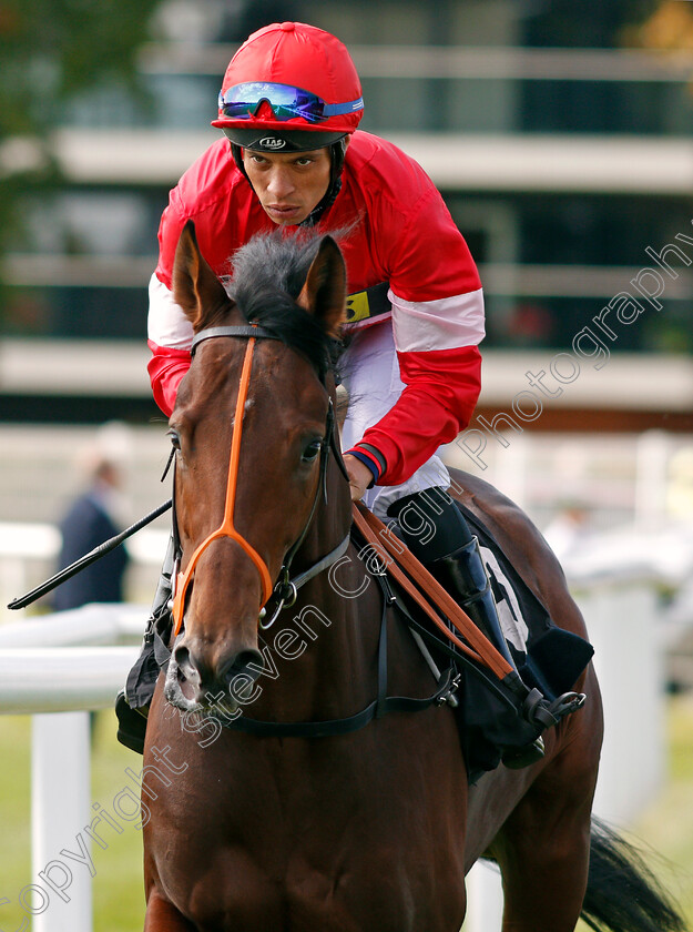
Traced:
<path fill-rule="evenodd" d="M 269 575 L 269 570 L 265 560 L 261 557 L 261 555 L 255 550 L 255 548 L 243 537 L 242 534 L 236 530 L 234 525 L 234 509 L 235 509 L 235 502 L 236 502 L 236 488 L 237 488 L 237 479 L 238 479 L 238 467 L 241 462 L 241 440 L 243 436 L 243 413 L 245 411 L 245 404 L 247 401 L 248 389 L 251 385 L 251 375 L 252 375 L 252 367 L 253 367 L 253 355 L 255 350 L 255 343 L 258 338 L 263 340 L 279 340 L 279 337 L 274 334 L 272 331 L 267 331 L 264 327 L 257 326 L 255 324 L 248 325 L 238 325 L 238 326 L 224 326 L 224 327 L 206 327 L 205 330 L 200 331 L 193 337 L 193 343 L 191 347 L 191 354 L 194 355 L 196 347 L 206 340 L 214 340 L 216 337 L 241 337 L 247 338 L 248 344 L 245 350 L 245 356 L 243 359 L 243 368 L 241 372 L 241 382 L 238 386 L 238 397 L 236 399 L 236 407 L 235 407 L 235 416 L 233 422 L 233 435 L 231 440 L 231 454 L 230 454 L 230 462 L 228 462 L 228 474 L 226 479 L 226 499 L 224 505 L 224 518 L 222 524 L 216 528 L 216 530 L 212 531 L 205 539 L 200 544 L 195 551 L 193 553 L 184 573 L 180 573 L 180 565 L 181 559 L 183 556 L 183 548 L 181 546 L 181 540 L 179 536 L 177 529 L 177 520 L 176 520 L 176 511 L 175 511 L 175 476 L 173 482 L 173 539 L 174 539 L 174 549 L 175 549 L 175 563 L 174 563 L 174 571 L 172 576 L 173 580 L 173 635 L 176 637 L 181 628 L 183 626 L 183 618 L 185 614 L 185 596 L 187 594 L 188 586 L 192 581 L 195 567 L 200 560 L 200 557 L 203 553 L 207 549 L 207 547 L 214 541 L 223 537 L 227 537 L 232 540 L 235 540 L 236 544 L 241 546 L 241 548 L 245 551 L 245 554 L 251 558 L 253 564 L 255 565 L 262 582 L 262 601 L 258 606 L 258 625 L 261 628 L 266 629 L 272 627 L 276 619 L 279 616 L 279 612 L 283 608 L 291 607 L 297 597 L 297 591 L 300 586 L 305 585 L 309 579 L 313 579 L 319 573 L 322 573 L 327 567 L 332 566 L 332 564 L 336 563 L 344 554 L 349 545 L 349 534 L 345 536 L 344 540 L 342 540 L 334 550 L 314 564 L 304 573 L 296 576 L 294 579 L 291 577 L 291 567 L 294 560 L 294 557 L 300 549 L 302 544 L 304 543 L 306 535 L 308 534 L 308 529 L 313 524 L 313 519 L 315 517 L 315 513 L 317 510 L 317 505 L 320 498 L 320 490 L 323 492 L 324 497 L 327 497 L 327 460 L 329 452 L 332 450 L 335 455 L 337 464 L 342 469 L 343 475 L 348 482 L 348 476 L 346 473 L 346 468 L 344 466 L 344 462 L 342 459 L 342 453 L 339 450 L 339 445 L 336 438 L 336 418 L 335 418 L 335 411 L 332 398 L 329 398 L 328 409 L 327 409 L 327 418 L 325 424 L 325 433 L 323 435 L 323 439 L 320 442 L 320 474 L 319 480 L 317 484 L 315 497 L 313 499 L 313 506 L 310 508 L 310 513 L 308 518 L 304 525 L 302 533 L 299 534 L 298 538 L 294 541 L 294 544 L 287 550 L 284 561 L 282 564 L 282 568 L 279 569 L 279 574 L 277 577 L 276 582 L 273 585 L 272 577 Z"/>

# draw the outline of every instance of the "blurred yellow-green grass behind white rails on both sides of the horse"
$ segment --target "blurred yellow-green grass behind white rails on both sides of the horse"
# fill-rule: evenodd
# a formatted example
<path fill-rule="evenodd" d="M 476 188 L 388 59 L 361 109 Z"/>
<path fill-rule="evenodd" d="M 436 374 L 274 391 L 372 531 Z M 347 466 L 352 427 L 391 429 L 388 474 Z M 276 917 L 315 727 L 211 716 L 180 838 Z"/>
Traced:
<path fill-rule="evenodd" d="M 630 837 L 662 855 L 652 867 L 677 900 L 693 930 L 693 696 L 673 698 L 667 715 L 670 779 L 660 798 L 643 813 Z M 24 912 L 19 891 L 31 882 L 30 870 L 30 736 L 28 717 L 0 716 L 0 930 L 17 930 Z M 57 763 L 59 766 L 59 762 Z M 115 740 L 115 716 L 96 718 L 92 799 L 106 809 L 130 781 L 125 768 L 137 771 L 141 758 Z M 142 929 L 142 838 L 132 824 L 122 834 L 110 832 L 109 848 L 94 845 L 93 882 L 95 932 L 134 932 Z M 10 902 L 2 904 L 2 900 Z M 579 930 L 585 926 L 580 925 Z"/>

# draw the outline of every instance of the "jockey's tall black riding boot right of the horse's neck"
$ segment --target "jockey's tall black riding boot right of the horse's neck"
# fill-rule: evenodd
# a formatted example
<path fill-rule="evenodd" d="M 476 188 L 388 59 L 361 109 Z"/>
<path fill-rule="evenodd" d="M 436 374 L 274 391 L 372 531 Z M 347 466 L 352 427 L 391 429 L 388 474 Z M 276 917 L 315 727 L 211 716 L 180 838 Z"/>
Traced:
<path fill-rule="evenodd" d="M 429 488 L 404 496 L 389 506 L 387 514 L 397 518 L 411 553 L 455 597 L 517 673 L 481 560 L 479 541 L 448 493 L 442 488 Z M 521 687 L 520 681 L 518 686 Z M 519 769 L 541 760 L 543 753 L 543 741 L 537 738 L 522 748 L 508 750 L 502 759 L 506 767 Z"/>

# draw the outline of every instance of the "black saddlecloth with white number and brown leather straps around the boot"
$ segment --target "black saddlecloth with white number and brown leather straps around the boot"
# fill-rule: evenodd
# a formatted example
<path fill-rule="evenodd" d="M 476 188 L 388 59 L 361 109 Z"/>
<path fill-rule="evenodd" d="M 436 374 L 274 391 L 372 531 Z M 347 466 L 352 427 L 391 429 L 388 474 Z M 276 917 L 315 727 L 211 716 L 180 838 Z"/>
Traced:
<path fill-rule="evenodd" d="M 572 691 L 593 648 L 553 624 L 546 607 L 514 570 L 479 519 L 457 507 L 477 535 L 496 598 L 503 636 L 517 671 L 487 640 L 457 601 L 440 586 L 401 539 L 364 506 L 354 524 L 369 571 L 385 579 L 385 597 L 425 642 L 425 657 L 452 660 L 456 699 L 450 702 L 470 782 L 502 760 L 513 766 L 522 749 L 542 731 L 577 711 L 585 697 Z M 389 595 L 388 595 L 389 590 Z M 519 764 L 516 764 L 519 766 Z"/>

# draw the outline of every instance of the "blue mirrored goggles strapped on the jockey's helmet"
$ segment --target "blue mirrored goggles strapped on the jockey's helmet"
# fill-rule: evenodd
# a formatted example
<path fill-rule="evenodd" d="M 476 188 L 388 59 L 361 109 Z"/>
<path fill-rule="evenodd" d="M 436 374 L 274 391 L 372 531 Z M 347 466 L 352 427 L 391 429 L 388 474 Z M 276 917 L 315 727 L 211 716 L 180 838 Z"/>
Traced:
<path fill-rule="evenodd" d="M 220 115 L 223 113 L 224 116 L 235 120 L 252 120 L 264 101 L 269 104 L 275 119 L 281 122 L 300 116 L 308 123 L 322 123 L 330 116 L 353 113 L 355 110 L 363 110 L 364 107 L 363 97 L 348 103 L 325 103 L 317 94 L 302 88 L 251 81 L 235 84 L 226 93 L 220 92 Z"/>

